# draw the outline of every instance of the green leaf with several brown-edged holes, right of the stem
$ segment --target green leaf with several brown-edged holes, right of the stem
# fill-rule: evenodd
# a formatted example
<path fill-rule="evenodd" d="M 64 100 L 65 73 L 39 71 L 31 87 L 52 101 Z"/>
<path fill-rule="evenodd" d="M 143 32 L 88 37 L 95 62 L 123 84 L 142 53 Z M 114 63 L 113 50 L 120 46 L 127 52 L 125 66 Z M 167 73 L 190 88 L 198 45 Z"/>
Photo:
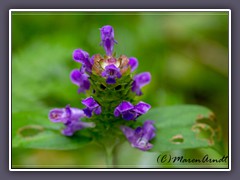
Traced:
<path fill-rule="evenodd" d="M 221 151 L 220 127 L 209 109 L 196 105 L 153 108 L 138 121 L 154 120 L 156 137 L 150 151 L 213 147 Z"/>

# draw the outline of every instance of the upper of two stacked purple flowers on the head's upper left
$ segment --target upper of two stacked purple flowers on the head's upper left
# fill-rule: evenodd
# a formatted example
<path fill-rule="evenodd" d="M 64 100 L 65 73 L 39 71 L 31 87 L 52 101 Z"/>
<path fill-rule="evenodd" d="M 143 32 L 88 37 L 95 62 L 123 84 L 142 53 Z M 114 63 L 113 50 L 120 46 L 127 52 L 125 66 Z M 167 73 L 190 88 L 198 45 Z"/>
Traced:
<path fill-rule="evenodd" d="M 82 49 L 74 50 L 73 59 L 77 62 L 80 62 L 83 65 L 83 68 L 86 70 L 86 72 L 88 73 L 92 72 L 93 59 L 89 57 L 89 54 L 86 51 Z"/>

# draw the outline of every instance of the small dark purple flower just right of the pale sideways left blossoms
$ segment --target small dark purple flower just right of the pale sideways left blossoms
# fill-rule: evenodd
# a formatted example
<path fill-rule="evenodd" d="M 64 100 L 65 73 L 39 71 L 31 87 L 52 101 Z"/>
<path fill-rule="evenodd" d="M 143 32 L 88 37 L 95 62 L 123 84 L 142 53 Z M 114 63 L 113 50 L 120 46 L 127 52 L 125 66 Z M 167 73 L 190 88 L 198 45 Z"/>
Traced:
<path fill-rule="evenodd" d="M 88 117 L 91 117 L 93 112 L 97 115 L 102 112 L 101 106 L 92 97 L 82 100 L 82 104 L 86 106 L 83 111 Z"/>

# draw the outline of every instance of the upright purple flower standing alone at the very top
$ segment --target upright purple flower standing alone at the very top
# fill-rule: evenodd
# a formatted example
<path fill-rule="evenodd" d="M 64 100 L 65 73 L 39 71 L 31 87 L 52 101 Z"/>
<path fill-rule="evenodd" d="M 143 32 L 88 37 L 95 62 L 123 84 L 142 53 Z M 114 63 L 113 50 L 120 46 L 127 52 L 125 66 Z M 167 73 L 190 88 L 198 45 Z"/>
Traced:
<path fill-rule="evenodd" d="M 100 32 L 102 39 L 100 45 L 104 47 L 106 54 L 111 56 L 114 44 L 117 43 L 117 41 L 114 39 L 114 30 L 112 26 L 106 25 L 100 28 Z"/>

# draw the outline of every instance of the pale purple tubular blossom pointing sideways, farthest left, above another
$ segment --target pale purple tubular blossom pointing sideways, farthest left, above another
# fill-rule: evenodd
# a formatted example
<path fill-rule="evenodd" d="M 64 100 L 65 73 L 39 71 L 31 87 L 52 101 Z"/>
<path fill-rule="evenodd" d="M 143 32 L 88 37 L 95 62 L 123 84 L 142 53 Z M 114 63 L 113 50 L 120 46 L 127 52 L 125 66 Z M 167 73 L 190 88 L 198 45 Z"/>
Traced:
<path fill-rule="evenodd" d="M 52 122 L 62 122 L 67 123 L 72 119 L 80 119 L 84 117 L 85 114 L 81 109 L 70 108 L 66 106 L 65 108 L 54 108 L 49 112 L 49 119 Z"/>

